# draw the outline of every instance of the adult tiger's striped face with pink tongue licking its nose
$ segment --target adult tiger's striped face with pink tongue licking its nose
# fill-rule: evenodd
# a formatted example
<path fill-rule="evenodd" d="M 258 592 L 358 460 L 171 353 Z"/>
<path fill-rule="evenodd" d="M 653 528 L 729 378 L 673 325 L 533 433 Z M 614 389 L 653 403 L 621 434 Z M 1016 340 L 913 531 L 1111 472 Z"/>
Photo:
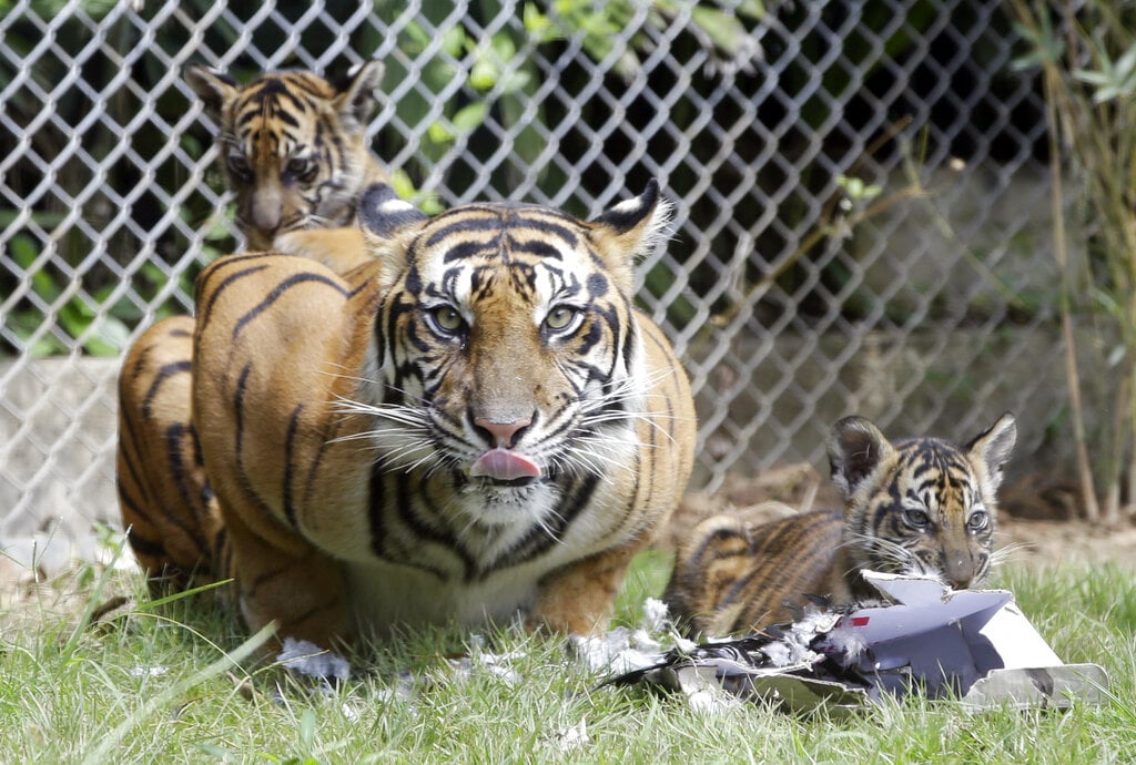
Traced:
<path fill-rule="evenodd" d="M 399 423 L 375 437 L 392 469 L 450 471 L 490 522 L 626 470 L 648 387 L 630 258 L 665 215 L 653 184 L 594 222 L 512 204 L 426 219 L 389 188 L 368 192 L 360 219 L 386 247 L 390 285 L 375 397 Z"/>

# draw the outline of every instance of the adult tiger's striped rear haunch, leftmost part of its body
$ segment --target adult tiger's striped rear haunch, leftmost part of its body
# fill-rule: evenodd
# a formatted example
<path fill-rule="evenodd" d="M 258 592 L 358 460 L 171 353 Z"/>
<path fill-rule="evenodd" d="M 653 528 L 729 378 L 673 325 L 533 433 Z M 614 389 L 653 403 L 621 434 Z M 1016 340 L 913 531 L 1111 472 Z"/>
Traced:
<path fill-rule="evenodd" d="M 118 380 L 123 527 L 148 577 L 176 587 L 194 574 L 209 581 L 215 560 L 226 554 L 190 419 L 192 359 L 193 319 L 166 319 L 133 345 Z"/>

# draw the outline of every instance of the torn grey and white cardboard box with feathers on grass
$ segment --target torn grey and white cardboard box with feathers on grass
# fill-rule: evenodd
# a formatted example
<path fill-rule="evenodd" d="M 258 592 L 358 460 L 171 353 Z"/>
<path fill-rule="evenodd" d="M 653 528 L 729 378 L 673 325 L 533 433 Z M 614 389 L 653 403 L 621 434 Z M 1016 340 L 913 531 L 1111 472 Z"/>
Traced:
<path fill-rule="evenodd" d="M 920 692 L 964 707 L 1100 704 L 1108 675 L 1063 664 L 1005 590 L 864 572 L 889 603 L 815 613 L 762 634 L 678 648 L 609 683 L 644 682 L 704 699 L 768 700 L 795 712 L 863 708 Z M 701 706 L 705 706 L 704 700 Z"/>

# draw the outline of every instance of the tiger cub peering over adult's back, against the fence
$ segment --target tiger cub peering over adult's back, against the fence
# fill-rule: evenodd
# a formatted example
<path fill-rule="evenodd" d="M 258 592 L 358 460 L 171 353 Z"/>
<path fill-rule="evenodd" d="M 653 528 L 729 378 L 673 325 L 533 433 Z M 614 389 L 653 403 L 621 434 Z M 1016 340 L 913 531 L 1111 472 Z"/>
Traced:
<path fill-rule="evenodd" d="M 378 61 L 335 84 L 281 72 L 239 85 L 204 67 L 186 69 L 185 82 L 219 127 L 220 165 L 250 250 L 281 247 L 285 232 L 339 227 L 334 244 L 310 249 L 300 237 L 285 246 L 339 272 L 367 260 L 356 208 L 367 186 L 387 179 L 366 135 L 382 76 Z"/>

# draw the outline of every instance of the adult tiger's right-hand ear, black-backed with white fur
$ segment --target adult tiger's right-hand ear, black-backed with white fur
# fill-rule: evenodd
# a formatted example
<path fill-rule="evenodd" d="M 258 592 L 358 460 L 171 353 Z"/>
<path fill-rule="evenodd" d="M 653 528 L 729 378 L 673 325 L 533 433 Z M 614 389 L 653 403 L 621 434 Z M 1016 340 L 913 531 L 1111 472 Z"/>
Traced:
<path fill-rule="evenodd" d="M 658 246 L 669 222 L 670 202 L 659 193 L 659 182 L 652 178 L 642 194 L 587 224 L 588 238 L 621 292 L 628 293 L 634 287 L 635 258 Z"/>

